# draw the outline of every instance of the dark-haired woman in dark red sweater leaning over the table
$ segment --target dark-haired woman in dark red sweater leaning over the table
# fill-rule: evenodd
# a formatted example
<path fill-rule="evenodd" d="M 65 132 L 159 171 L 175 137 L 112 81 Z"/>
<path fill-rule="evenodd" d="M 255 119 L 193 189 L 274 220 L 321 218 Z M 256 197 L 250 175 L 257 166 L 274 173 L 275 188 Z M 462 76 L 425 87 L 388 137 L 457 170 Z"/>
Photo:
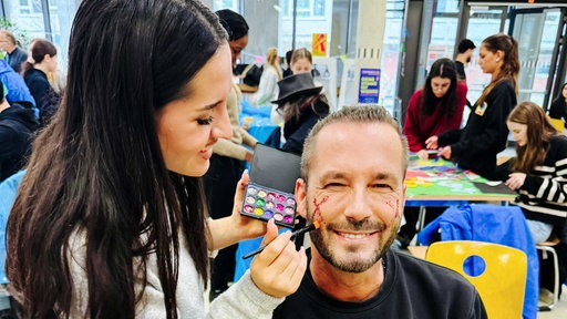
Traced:
<path fill-rule="evenodd" d="M 466 84 L 457 81 L 453 61 L 442 58 L 433 62 L 423 89 L 413 93 L 408 104 L 403 133 L 408 137 L 410 152 L 421 160 L 429 158 L 425 141 L 447 130 L 456 130 L 463 120 L 466 104 Z M 427 207 L 427 222 L 435 219 L 446 207 Z M 415 236 L 415 223 L 420 207 L 405 207 L 405 224 L 400 227 L 394 247 L 406 247 Z"/>

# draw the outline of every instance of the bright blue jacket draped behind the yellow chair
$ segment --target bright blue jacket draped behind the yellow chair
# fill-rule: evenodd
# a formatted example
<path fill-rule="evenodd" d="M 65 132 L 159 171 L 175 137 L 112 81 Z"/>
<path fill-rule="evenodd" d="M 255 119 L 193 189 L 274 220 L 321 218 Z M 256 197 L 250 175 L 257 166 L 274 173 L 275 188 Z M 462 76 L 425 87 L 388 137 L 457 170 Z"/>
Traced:
<path fill-rule="evenodd" d="M 537 317 L 539 295 L 539 259 L 524 213 L 517 206 L 491 204 L 450 207 L 417 235 L 421 244 L 431 244 L 441 233 L 441 240 L 478 240 L 520 249 L 527 256 L 524 319 Z"/>

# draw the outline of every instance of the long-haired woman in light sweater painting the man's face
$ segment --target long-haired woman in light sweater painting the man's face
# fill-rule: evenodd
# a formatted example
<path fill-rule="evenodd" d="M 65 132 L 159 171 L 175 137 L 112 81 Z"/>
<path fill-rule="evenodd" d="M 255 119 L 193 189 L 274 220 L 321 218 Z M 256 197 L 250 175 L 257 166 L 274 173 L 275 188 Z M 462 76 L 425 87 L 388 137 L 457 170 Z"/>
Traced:
<path fill-rule="evenodd" d="M 271 318 L 307 264 L 272 222 L 250 271 L 205 313 L 209 251 L 266 230 L 238 213 L 246 174 L 233 215 L 207 220 L 199 177 L 231 134 L 217 17 L 200 1 L 82 1 L 72 30 L 66 93 L 8 222 L 25 318 Z"/>

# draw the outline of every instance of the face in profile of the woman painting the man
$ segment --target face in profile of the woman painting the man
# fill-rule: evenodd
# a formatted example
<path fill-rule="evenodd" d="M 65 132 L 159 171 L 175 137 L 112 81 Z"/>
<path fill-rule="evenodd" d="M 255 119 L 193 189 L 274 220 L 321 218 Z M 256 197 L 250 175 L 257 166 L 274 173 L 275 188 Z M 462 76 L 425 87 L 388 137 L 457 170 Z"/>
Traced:
<path fill-rule="evenodd" d="M 233 136 L 226 106 L 231 74 L 230 49 L 220 45 L 187 84 L 188 93 L 157 112 L 157 136 L 167 169 L 203 176 L 217 140 Z"/>

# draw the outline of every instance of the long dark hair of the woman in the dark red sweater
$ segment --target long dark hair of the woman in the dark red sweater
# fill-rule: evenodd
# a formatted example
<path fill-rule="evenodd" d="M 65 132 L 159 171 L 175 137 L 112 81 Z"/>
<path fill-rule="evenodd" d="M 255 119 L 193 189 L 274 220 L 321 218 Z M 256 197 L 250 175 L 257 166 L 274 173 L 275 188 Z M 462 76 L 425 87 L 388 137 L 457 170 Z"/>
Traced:
<path fill-rule="evenodd" d="M 433 89 L 431 88 L 431 80 L 433 78 L 444 78 L 451 80 L 451 85 L 449 86 L 445 95 L 437 97 L 433 93 Z M 441 114 L 443 116 L 450 119 L 455 114 L 456 109 L 456 66 L 455 62 L 450 59 L 442 58 L 433 62 L 431 65 L 430 73 L 427 74 L 427 79 L 425 80 L 425 84 L 423 85 L 423 95 L 421 97 L 421 112 L 424 115 L 432 114 L 435 109 L 441 107 Z"/>

